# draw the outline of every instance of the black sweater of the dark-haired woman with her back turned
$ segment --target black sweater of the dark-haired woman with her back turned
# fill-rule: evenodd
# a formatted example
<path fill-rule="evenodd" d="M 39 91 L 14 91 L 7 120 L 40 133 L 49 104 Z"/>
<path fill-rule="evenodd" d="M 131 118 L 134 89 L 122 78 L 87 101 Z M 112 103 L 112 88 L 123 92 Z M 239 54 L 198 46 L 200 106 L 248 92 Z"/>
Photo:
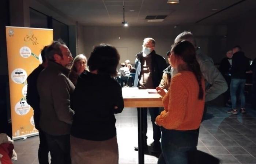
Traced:
<path fill-rule="evenodd" d="M 71 98 L 75 110 L 71 135 L 93 141 L 109 140 L 116 136 L 116 118 L 124 101 L 120 85 L 110 76 L 85 71 Z M 118 109 L 114 109 L 117 106 Z"/>

